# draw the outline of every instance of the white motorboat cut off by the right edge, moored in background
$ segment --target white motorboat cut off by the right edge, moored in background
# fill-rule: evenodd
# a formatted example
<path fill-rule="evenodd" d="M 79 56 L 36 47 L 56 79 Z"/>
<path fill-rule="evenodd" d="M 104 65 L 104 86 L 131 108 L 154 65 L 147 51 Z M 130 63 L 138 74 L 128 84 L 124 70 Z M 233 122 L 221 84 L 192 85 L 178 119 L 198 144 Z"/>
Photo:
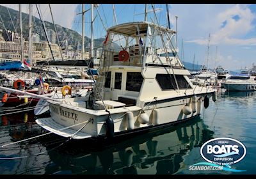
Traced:
<path fill-rule="evenodd" d="M 256 78 L 248 75 L 230 75 L 221 86 L 227 91 L 255 91 Z"/>

